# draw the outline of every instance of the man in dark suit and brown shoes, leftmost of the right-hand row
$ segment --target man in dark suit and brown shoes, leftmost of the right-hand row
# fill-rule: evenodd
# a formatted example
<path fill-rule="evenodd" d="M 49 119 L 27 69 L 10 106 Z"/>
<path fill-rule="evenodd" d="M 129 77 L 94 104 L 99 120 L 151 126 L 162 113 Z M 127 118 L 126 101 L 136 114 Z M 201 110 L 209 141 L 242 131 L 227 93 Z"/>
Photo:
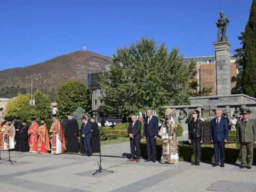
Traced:
<path fill-rule="evenodd" d="M 132 122 L 128 126 L 128 134 L 130 137 L 131 146 L 131 158 L 127 162 L 136 161 L 140 162 L 140 139 L 141 139 L 141 122 L 138 121 L 136 115 L 132 115 Z M 135 147 L 136 147 L 136 159 L 135 159 Z"/>

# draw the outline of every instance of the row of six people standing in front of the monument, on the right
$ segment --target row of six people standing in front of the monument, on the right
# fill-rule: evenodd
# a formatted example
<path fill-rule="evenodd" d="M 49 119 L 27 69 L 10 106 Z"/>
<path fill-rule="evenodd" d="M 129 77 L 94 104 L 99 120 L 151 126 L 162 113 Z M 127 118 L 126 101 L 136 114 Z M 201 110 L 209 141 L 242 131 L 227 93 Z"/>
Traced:
<path fill-rule="evenodd" d="M 253 161 L 253 145 L 256 143 L 256 126 L 253 119 L 250 119 L 251 111 L 243 109 L 236 122 L 237 141 L 242 150 L 241 169 L 251 169 Z M 156 162 L 156 138 L 162 142 L 161 163 L 178 163 L 177 146 L 177 123 L 172 118 L 173 110 L 165 110 L 165 118 L 161 129 L 158 130 L 158 118 L 153 115 L 153 110 L 147 110 L 147 117 L 144 120 L 143 137 L 146 139 L 147 159 L 145 162 Z M 201 145 L 204 135 L 204 122 L 199 118 L 200 112 L 194 110 L 191 121 L 188 123 L 188 141 L 193 145 L 195 161 L 191 165 L 200 165 Z M 235 117 L 235 116 L 234 116 Z M 128 127 L 130 137 L 131 158 L 127 162 L 140 162 L 140 137 L 141 123 L 136 115 L 131 116 L 132 121 Z M 234 128 L 235 129 L 235 128 Z M 210 141 L 213 143 L 215 162 L 213 167 L 225 167 L 225 143 L 228 141 L 229 123 L 222 114 L 221 109 L 215 110 L 215 118 L 210 122 Z M 220 154 L 220 155 L 219 155 Z"/>

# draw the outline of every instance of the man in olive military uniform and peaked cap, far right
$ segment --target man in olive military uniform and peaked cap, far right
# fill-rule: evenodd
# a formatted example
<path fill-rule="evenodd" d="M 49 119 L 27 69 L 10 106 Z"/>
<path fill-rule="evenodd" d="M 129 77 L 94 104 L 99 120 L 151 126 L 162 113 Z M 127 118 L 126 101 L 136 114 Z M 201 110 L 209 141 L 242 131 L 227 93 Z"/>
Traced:
<path fill-rule="evenodd" d="M 256 126 L 253 119 L 249 118 L 250 113 L 249 109 L 243 109 L 243 119 L 237 123 L 237 142 L 241 144 L 242 169 L 252 169 L 253 145 L 256 143 Z"/>

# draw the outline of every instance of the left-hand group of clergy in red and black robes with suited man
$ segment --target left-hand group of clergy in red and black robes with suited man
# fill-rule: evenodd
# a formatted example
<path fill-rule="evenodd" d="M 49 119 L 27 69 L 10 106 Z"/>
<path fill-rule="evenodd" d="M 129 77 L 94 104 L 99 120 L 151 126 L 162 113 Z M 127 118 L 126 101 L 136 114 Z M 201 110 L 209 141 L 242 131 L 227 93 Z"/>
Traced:
<path fill-rule="evenodd" d="M 52 115 L 52 125 L 48 133 L 45 118 L 41 118 L 40 125 L 31 118 L 31 125 L 27 121 L 17 117 L 15 121 L 4 118 L 0 125 L 0 150 L 12 150 L 21 152 L 46 154 L 79 153 L 83 156 L 91 156 L 100 152 L 99 127 L 94 117 L 85 115 L 82 118 L 81 132 L 78 122 L 71 115 L 64 131 L 62 123 L 55 114 Z M 80 147 L 78 138 L 81 137 Z M 67 141 L 67 142 L 66 142 Z"/>

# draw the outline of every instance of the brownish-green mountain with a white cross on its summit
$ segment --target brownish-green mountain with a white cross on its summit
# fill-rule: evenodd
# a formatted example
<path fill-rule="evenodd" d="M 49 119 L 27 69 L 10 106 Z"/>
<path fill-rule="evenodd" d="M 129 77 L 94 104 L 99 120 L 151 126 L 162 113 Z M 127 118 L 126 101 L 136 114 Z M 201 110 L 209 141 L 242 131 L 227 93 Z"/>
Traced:
<path fill-rule="evenodd" d="M 12 98 L 17 92 L 30 93 L 31 79 L 35 89 L 53 100 L 58 87 L 68 79 L 86 84 L 88 73 L 101 71 L 110 58 L 90 51 L 76 51 L 36 65 L 0 71 L 0 98 Z"/>

